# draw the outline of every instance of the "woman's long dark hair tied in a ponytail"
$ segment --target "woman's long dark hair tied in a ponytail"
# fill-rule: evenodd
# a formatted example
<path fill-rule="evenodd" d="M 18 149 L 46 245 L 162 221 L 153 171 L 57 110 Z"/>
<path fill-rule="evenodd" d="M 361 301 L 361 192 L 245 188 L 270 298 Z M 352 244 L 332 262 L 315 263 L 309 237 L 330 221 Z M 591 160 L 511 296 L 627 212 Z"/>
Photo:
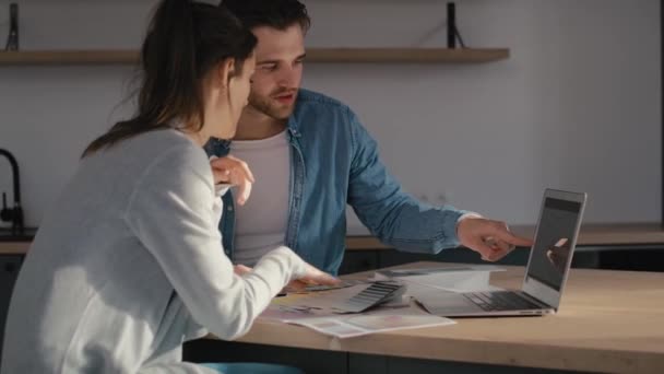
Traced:
<path fill-rule="evenodd" d="M 155 129 L 200 130 L 204 78 L 227 58 L 235 59 L 233 73 L 241 74 L 257 43 L 256 36 L 224 8 L 163 0 L 141 49 L 135 116 L 117 122 L 94 140 L 83 156 Z"/>

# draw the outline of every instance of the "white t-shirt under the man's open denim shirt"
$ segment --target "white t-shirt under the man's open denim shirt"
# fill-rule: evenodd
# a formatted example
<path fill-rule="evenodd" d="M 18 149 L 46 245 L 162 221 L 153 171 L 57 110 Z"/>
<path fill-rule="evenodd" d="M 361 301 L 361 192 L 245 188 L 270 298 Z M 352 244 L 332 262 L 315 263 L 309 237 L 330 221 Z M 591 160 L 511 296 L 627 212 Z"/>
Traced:
<path fill-rule="evenodd" d="M 253 266 L 284 244 L 288 220 L 290 145 L 286 130 L 262 140 L 234 140 L 230 154 L 256 177 L 245 206 L 236 206 L 233 261 Z"/>

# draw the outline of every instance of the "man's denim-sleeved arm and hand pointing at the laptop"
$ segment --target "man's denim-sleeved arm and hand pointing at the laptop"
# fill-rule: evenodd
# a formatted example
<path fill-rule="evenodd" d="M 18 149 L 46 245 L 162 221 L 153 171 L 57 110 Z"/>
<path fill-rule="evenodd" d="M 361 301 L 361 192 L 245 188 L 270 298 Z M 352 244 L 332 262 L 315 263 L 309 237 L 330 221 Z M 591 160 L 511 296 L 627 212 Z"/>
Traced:
<path fill-rule="evenodd" d="M 460 244 L 496 261 L 532 241 L 513 235 L 501 221 L 451 206 L 432 207 L 405 194 L 378 156 L 376 140 L 348 110 L 353 161 L 348 203 L 382 243 L 404 252 L 437 254 Z"/>

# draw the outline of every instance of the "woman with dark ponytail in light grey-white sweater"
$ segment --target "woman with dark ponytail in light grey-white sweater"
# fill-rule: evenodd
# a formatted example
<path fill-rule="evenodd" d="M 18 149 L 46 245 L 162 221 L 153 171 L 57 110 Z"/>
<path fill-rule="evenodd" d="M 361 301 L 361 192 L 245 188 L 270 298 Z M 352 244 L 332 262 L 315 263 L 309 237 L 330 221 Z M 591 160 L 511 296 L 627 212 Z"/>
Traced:
<path fill-rule="evenodd" d="M 2 373 L 215 372 L 182 342 L 245 334 L 292 280 L 336 281 L 285 247 L 238 276 L 221 247 L 215 178 L 252 177 L 234 159 L 213 173 L 202 145 L 234 136 L 256 43 L 221 8 L 161 2 L 138 114 L 90 144 L 26 257 Z"/>

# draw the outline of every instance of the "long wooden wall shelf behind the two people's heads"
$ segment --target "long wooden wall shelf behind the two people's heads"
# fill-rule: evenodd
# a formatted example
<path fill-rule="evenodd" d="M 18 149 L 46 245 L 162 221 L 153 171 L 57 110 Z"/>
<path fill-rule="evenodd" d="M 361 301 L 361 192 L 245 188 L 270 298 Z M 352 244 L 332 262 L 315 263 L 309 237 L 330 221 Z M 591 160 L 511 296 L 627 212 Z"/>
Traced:
<path fill-rule="evenodd" d="M 308 62 L 478 63 L 507 59 L 506 48 L 309 48 Z M 0 51 L 0 66 L 128 65 L 138 50 L 25 50 Z"/>

